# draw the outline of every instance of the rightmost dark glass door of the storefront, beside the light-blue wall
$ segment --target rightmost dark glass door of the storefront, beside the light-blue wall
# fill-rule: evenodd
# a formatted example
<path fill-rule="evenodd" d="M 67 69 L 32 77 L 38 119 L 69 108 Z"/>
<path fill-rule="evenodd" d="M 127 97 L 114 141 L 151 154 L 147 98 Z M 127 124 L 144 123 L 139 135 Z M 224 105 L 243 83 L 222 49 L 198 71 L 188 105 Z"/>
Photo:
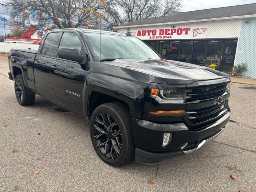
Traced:
<path fill-rule="evenodd" d="M 234 59 L 236 55 L 236 44 L 237 40 L 224 40 L 221 63 L 218 70 L 220 71 L 230 71 L 234 65 Z"/>

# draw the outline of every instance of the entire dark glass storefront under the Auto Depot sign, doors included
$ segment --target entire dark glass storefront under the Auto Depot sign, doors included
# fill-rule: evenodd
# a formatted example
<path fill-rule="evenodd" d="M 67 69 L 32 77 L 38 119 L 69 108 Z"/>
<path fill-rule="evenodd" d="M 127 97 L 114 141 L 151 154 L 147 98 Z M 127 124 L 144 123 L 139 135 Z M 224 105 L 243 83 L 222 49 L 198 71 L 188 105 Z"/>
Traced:
<path fill-rule="evenodd" d="M 145 41 L 162 58 L 210 66 L 217 64 L 220 71 L 230 71 L 234 65 L 237 40 L 158 40 Z"/>

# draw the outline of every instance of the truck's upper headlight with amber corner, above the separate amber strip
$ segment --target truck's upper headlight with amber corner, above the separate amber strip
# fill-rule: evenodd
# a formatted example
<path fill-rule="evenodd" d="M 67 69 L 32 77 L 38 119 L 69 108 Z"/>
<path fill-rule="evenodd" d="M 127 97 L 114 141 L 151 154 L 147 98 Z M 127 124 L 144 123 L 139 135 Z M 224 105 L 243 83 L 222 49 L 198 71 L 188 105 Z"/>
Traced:
<path fill-rule="evenodd" d="M 150 97 L 154 98 L 158 103 L 185 103 L 185 89 L 168 89 L 160 90 L 151 88 Z"/>

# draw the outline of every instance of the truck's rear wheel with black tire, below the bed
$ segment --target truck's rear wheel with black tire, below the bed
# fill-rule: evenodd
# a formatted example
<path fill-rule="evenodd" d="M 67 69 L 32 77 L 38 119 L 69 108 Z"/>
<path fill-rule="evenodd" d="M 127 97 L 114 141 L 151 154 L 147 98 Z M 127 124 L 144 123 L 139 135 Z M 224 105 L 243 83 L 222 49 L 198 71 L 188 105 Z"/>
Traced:
<path fill-rule="evenodd" d="M 22 106 L 31 105 L 35 101 L 35 95 L 30 95 L 26 88 L 22 75 L 17 75 L 14 80 L 14 90 L 18 103 Z"/>

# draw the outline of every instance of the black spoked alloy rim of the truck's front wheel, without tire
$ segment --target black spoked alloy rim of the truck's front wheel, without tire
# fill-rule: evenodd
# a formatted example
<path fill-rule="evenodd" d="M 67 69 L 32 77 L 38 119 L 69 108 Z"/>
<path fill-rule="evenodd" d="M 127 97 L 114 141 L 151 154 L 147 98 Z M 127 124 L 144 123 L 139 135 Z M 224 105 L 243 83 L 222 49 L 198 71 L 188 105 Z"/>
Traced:
<path fill-rule="evenodd" d="M 93 123 L 96 145 L 102 155 L 115 159 L 122 151 L 122 134 L 116 119 L 109 113 L 101 112 Z"/>

